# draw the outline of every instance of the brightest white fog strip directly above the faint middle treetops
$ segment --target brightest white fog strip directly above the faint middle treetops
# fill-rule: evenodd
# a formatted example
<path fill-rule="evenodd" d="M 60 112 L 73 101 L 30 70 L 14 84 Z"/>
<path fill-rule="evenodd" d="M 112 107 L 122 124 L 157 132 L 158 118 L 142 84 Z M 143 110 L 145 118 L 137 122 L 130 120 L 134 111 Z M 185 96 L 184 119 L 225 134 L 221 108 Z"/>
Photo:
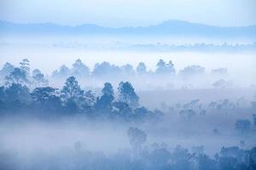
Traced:
<path fill-rule="evenodd" d="M 137 65 L 140 61 L 144 61 L 148 65 L 149 70 L 155 69 L 155 63 L 159 59 L 170 60 L 176 64 L 176 68 L 181 70 L 187 65 L 203 65 L 208 71 L 214 68 L 224 67 L 233 73 L 245 76 L 255 76 L 255 54 L 227 54 L 227 53 L 189 53 L 189 52 L 176 52 L 176 53 L 140 53 L 140 52 L 120 52 L 120 51 L 105 51 L 93 52 L 83 51 L 78 49 L 67 48 L 3 48 L 1 50 L 1 65 L 9 59 L 10 63 L 18 64 L 20 56 L 30 59 L 32 66 L 38 68 L 45 73 L 50 74 L 55 68 L 66 64 L 71 66 L 75 59 L 81 59 L 86 65 L 93 69 L 96 62 L 103 62 L 110 58 L 108 62 L 115 65 Z M 49 62 L 54 58 L 54 62 Z M 207 58 L 207 60 L 205 59 Z M 21 58 L 22 59 L 22 58 Z M 242 63 L 242 65 L 241 65 Z M 48 66 L 45 66 L 45 65 Z M 247 72 L 249 70 L 249 72 Z M 247 76 L 247 75 L 246 75 Z"/>

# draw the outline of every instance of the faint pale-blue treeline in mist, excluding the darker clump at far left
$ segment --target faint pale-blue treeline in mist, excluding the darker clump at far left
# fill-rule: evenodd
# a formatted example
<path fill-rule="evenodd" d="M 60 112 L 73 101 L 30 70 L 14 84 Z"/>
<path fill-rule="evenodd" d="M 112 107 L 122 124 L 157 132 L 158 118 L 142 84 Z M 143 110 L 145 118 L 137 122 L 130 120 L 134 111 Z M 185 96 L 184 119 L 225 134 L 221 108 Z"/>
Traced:
<path fill-rule="evenodd" d="M 179 76 L 179 77 L 191 77 L 200 76 L 206 73 L 206 68 L 201 65 L 189 65 L 181 71 L 177 71 L 172 63 L 172 60 L 166 62 L 160 59 L 156 63 L 156 69 L 154 71 L 148 70 L 145 63 L 140 62 L 136 68 L 133 65 L 112 65 L 106 61 L 102 63 L 96 63 L 92 71 L 90 68 L 80 60 L 77 59 L 72 68 L 68 68 L 66 65 L 61 65 L 58 70 L 53 71 L 52 77 L 129 77 L 129 76 Z M 212 75 L 225 75 L 227 69 L 218 68 L 212 69 Z"/>

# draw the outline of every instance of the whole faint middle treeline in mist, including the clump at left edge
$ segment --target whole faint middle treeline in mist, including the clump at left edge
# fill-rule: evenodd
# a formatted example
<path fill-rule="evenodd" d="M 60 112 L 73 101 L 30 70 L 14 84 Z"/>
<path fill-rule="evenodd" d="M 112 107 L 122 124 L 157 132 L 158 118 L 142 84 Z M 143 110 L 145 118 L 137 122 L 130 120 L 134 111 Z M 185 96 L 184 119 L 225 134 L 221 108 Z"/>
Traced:
<path fill-rule="evenodd" d="M 159 77 L 159 76 L 178 76 L 178 77 L 194 77 L 204 75 L 205 68 L 201 65 L 190 65 L 181 71 L 176 71 L 172 60 L 166 63 L 163 59 L 160 59 L 156 64 L 155 71 L 148 71 L 147 66 L 140 62 L 136 68 L 133 68 L 132 65 L 111 65 L 110 63 L 104 61 L 102 63 L 97 63 L 94 66 L 94 69 L 90 71 L 90 68 L 87 65 L 77 59 L 72 68 L 68 68 L 66 65 L 61 65 L 58 70 L 52 72 L 51 77 L 54 79 L 66 79 L 67 77 L 77 77 L 77 78 L 117 78 L 117 77 L 134 77 L 134 76 L 150 76 L 150 77 Z M 218 68 L 211 71 L 212 75 L 224 76 L 227 75 L 227 69 Z M 39 71 L 35 69 L 30 71 L 30 62 L 28 59 L 23 59 L 20 62 L 18 67 L 6 63 L 3 65 L 2 70 L 0 70 L 0 77 L 3 79 L 3 82 L 6 84 L 15 82 L 15 83 L 28 83 L 34 84 L 35 87 L 45 86 L 48 84 L 48 78 Z M 223 85 L 224 82 L 218 82 L 218 84 Z M 215 86 L 218 86 L 216 84 Z"/>

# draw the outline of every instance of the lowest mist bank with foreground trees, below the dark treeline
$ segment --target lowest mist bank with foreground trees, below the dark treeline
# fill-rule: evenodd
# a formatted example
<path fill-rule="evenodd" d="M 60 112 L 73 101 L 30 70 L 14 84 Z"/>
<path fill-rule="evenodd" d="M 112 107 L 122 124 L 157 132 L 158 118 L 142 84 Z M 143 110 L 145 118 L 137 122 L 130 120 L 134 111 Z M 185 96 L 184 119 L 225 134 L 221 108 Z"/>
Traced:
<path fill-rule="evenodd" d="M 2 121 L 0 165 L 3 169 L 255 168 L 255 148 L 248 145 L 249 134 L 243 137 L 246 142 L 239 140 L 241 134 L 162 136 L 154 132 L 163 131 L 159 124 L 130 127 L 128 123 L 70 118 L 58 122 Z"/>

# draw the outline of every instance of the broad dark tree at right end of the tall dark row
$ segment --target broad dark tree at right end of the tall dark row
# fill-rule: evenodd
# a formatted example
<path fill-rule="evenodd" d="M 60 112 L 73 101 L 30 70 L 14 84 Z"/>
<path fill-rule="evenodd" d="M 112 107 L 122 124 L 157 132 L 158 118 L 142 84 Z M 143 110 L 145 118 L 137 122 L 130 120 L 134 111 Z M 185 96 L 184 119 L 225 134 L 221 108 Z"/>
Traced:
<path fill-rule="evenodd" d="M 135 108 L 138 104 L 139 97 L 131 86 L 130 82 L 120 82 L 119 83 L 119 101 L 125 102 L 131 107 Z"/>

